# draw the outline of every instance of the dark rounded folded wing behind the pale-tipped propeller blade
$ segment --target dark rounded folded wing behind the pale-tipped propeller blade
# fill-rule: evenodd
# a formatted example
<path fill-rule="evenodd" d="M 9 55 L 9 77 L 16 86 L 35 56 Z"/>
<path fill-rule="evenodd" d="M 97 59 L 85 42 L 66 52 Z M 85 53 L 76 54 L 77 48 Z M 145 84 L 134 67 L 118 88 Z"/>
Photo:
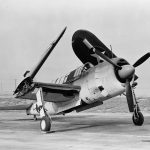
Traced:
<path fill-rule="evenodd" d="M 97 65 L 100 61 L 100 57 L 91 52 L 83 43 L 83 40 L 87 39 L 94 47 L 99 47 L 107 57 L 116 57 L 112 51 L 106 47 L 93 33 L 86 30 L 78 30 L 72 37 L 72 47 L 83 64 L 90 62 L 93 65 Z"/>

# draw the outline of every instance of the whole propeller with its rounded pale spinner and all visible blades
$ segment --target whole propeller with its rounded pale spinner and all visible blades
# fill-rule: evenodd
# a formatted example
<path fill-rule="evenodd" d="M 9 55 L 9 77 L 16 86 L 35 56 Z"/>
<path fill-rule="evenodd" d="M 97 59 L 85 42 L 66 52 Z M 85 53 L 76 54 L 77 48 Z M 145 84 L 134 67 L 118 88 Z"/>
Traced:
<path fill-rule="evenodd" d="M 143 55 L 140 59 L 138 59 L 133 65 L 127 64 L 123 66 L 119 66 L 115 62 L 113 62 L 110 58 L 108 58 L 106 55 L 101 53 L 102 47 L 93 47 L 90 42 L 87 39 L 83 40 L 83 43 L 93 52 L 95 52 L 97 55 L 99 55 L 101 58 L 112 64 L 116 69 L 117 73 L 120 79 L 123 79 L 125 81 L 125 92 L 126 92 L 126 98 L 127 98 L 127 103 L 129 107 L 129 111 L 133 112 L 134 111 L 134 104 L 136 102 L 134 93 L 133 93 L 133 87 L 130 85 L 131 81 L 135 81 L 138 77 L 134 74 L 135 73 L 135 68 L 141 65 L 143 62 L 145 62 L 149 57 L 150 53 L 147 53 Z"/>

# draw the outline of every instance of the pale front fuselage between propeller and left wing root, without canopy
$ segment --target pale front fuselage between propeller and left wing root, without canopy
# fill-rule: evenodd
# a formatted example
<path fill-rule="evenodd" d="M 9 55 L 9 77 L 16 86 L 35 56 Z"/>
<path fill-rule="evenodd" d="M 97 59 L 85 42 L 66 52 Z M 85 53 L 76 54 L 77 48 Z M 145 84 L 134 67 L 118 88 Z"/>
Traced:
<path fill-rule="evenodd" d="M 114 67 L 104 61 L 89 68 L 74 85 L 81 86 L 79 97 L 85 103 L 104 101 L 124 92 L 123 84 L 116 78 Z"/>

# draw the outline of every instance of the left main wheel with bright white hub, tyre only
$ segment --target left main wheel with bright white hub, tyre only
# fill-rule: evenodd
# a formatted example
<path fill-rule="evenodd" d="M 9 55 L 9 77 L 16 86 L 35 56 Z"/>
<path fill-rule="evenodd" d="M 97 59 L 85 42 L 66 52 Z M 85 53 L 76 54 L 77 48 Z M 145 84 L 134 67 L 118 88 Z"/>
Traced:
<path fill-rule="evenodd" d="M 41 119 L 41 122 L 40 122 L 40 126 L 41 126 L 41 130 L 42 131 L 50 131 L 51 129 L 51 120 L 48 116 L 44 116 L 42 117 Z"/>

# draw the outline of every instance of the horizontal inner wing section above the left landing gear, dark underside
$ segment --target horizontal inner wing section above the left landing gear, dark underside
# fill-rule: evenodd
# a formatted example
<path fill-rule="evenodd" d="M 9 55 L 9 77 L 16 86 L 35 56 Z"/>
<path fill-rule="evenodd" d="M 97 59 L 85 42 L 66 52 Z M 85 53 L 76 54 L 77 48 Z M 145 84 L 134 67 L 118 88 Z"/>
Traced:
<path fill-rule="evenodd" d="M 38 88 L 43 90 L 44 101 L 47 102 L 65 102 L 72 100 L 79 94 L 81 87 L 68 84 L 51 84 L 42 82 L 33 82 L 33 87 L 28 91 L 21 91 L 16 98 L 36 100 Z"/>

